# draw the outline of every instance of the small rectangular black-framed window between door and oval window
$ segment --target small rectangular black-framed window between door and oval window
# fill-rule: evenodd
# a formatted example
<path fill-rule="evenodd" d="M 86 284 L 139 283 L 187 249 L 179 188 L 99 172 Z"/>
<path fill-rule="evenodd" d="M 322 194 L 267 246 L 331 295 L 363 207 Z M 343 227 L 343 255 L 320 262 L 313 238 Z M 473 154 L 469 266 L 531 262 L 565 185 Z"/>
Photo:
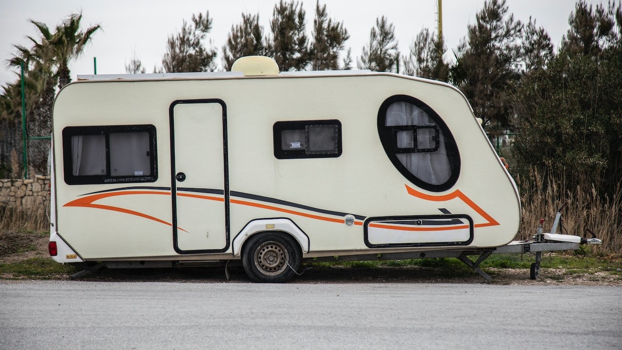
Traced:
<path fill-rule="evenodd" d="M 338 120 L 277 121 L 274 156 L 278 159 L 334 158 L 341 155 Z"/>

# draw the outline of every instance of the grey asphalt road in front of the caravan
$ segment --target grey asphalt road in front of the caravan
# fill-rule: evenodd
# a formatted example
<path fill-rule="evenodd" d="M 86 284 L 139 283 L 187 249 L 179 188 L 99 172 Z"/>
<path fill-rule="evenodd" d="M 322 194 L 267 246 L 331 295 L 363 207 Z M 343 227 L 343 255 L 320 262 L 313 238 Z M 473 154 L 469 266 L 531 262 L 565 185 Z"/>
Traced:
<path fill-rule="evenodd" d="M 622 349 L 622 288 L 0 283 L 0 349 Z"/>

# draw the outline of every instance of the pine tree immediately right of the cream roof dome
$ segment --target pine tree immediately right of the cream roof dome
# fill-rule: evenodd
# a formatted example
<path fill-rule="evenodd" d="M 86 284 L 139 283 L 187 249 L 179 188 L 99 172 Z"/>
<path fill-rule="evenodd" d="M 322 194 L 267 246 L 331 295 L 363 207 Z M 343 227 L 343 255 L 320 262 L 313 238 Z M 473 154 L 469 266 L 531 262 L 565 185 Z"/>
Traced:
<path fill-rule="evenodd" d="M 270 30 L 272 40 L 268 52 L 279 69 L 304 70 L 309 65 L 309 39 L 305 29 L 306 12 L 302 3 L 284 2 L 274 5 Z"/>

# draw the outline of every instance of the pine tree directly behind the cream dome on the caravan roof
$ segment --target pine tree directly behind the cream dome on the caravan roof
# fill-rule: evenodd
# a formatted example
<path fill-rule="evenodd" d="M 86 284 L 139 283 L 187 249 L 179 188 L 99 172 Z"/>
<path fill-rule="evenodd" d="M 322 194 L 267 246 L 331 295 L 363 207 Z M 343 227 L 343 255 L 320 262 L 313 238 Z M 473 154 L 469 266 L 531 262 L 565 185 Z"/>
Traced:
<path fill-rule="evenodd" d="M 266 38 L 263 27 L 259 26 L 259 14 L 242 14 L 242 22 L 231 26 L 223 46 L 223 68 L 231 70 L 231 65 L 239 57 L 266 54 Z"/>

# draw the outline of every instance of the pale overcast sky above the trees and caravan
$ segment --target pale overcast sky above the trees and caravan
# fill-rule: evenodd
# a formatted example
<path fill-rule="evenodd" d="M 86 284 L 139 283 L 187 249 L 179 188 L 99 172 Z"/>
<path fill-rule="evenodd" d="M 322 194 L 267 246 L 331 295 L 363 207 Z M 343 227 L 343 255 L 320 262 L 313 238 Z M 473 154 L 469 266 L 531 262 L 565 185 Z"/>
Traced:
<path fill-rule="evenodd" d="M 27 35 L 37 35 L 29 19 L 45 22 L 53 29 L 72 12 L 82 11 L 82 26 L 101 24 L 103 31 L 96 32 L 84 54 L 70 64 L 72 80 L 78 74 L 93 73 L 93 57 L 97 57 L 98 74 L 125 73 L 125 64 L 132 55 L 141 59 L 151 73 L 154 66 L 160 66 L 165 44 L 170 34 L 177 32 L 183 20 L 190 21 L 192 14 L 209 10 L 213 18 L 213 29 L 208 34 L 218 49 L 218 64 L 221 62 L 221 48 L 232 24 L 241 21 L 241 14 L 259 13 L 260 24 L 269 31 L 269 20 L 277 0 L 0 0 L 0 85 L 17 80 L 17 75 L 6 67 L 11 57 L 13 44 L 30 47 Z M 588 1 L 601 3 L 601 1 Z M 395 26 L 399 48 L 403 53 L 419 31 L 427 27 L 435 32 L 437 22 L 437 0 L 323 0 L 329 16 L 343 21 L 350 33 L 346 47 L 351 47 L 355 59 L 360 56 L 363 45 L 369 40 L 369 31 L 376 17 L 384 15 Z M 448 52 L 466 35 L 466 26 L 475 22 L 475 14 L 483 7 L 484 0 L 444 0 L 442 4 L 443 34 L 447 40 Z M 544 26 L 555 47 L 568 29 L 568 17 L 575 6 L 574 0 L 508 0 L 509 12 L 523 22 L 529 16 Z M 304 1 L 307 11 L 307 30 L 311 31 L 315 14 L 315 1 Z M 356 68 L 356 67 L 355 67 Z"/>

